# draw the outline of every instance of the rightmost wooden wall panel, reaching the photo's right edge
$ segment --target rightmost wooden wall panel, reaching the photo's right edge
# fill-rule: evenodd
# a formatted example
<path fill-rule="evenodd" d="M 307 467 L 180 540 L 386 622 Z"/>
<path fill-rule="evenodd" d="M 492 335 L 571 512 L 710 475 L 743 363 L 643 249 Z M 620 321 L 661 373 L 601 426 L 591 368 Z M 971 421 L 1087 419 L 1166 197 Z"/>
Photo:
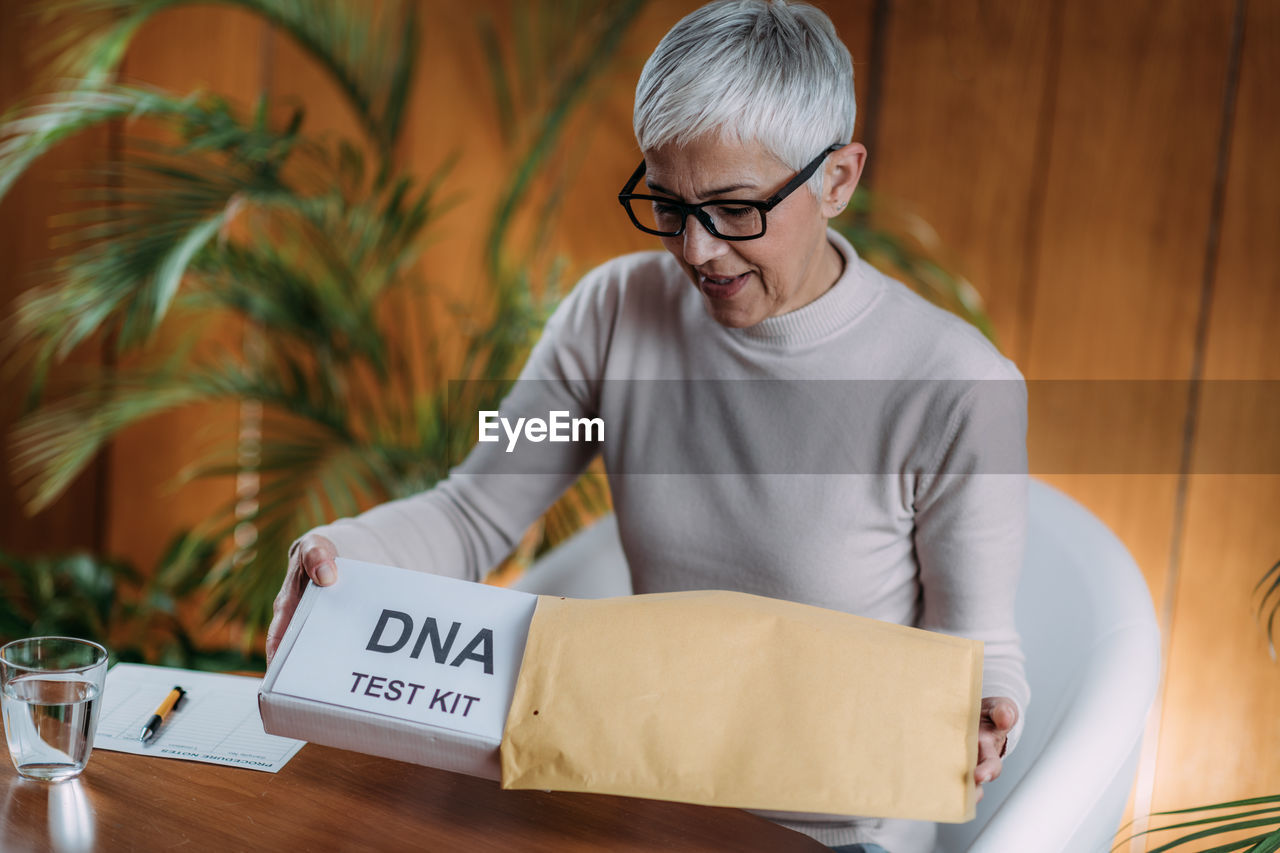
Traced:
<path fill-rule="evenodd" d="M 1221 250 L 1204 353 L 1155 808 L 1280 790 L 1280 667 L 1251 590 L 1280 560 L 1280 400 L 1233 379 L 1280 380 L 1280 6 L 1248 4 Z M 1225 442 L 1224 442 L 1225 437 Z M 1229 443 L 1233 453 L 1216 452 Z M 1213 450 L 1213 460 L 1207 452 Z M 1270 451 L 1270 452 L 1268 452 Z M 1249 471 L 1253 471 L 1252 474 Z"/>

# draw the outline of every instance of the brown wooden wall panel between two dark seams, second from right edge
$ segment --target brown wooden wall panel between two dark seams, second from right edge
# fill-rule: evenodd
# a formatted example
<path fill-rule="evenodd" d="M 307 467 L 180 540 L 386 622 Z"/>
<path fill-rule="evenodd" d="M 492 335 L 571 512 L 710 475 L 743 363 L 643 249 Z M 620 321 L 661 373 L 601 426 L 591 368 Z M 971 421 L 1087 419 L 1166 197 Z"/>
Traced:
<path fill-rule="evenodd" d="M 1230 12 L 1226 4 L 1065 4 L 1023 364 L 1029 378 L 1189 377 Z M 1097 429 L 1178 446 L 1183 423 L 1184 410 L 1157 420 L 1135 412 L 1092 432 L 1060 419 L 1033 426 L 1032 446 L 1074 443 L 1088 452 Z M 1129 546 L 1160 602 L 1174 523 L 1170 483 L 1087 478 L 1073 494 Z"/>

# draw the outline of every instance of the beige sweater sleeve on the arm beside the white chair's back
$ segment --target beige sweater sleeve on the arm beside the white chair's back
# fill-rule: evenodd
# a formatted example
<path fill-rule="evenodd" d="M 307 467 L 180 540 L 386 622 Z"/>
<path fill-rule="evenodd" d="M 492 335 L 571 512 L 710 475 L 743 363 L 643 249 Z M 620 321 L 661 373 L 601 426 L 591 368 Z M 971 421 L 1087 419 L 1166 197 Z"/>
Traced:
<path fill-rule="evenodd" d="M 1030 703 L 1014 624 L 1027 544 L 1027 386 L 1011 365 L 1001 378 L 963 386 L 950 439 L 915 494 L 919 626 L 983 642 L 982 695 L 1018 706 L 1009 754 Z"/>

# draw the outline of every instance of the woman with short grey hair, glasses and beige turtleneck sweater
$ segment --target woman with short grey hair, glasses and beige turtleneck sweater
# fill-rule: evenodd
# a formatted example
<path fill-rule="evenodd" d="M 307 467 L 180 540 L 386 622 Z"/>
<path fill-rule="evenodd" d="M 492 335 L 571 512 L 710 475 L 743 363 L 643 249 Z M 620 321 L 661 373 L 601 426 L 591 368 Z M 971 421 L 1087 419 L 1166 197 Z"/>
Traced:
<path fill-rule="evenodd" d="M 740 589 L 984 640 L 975 780 L 998 776 L 1029 701 L 1021 377 L 827 228 L 865 160 L 854 118 L 849 51 L 817 9 L 723 0 L 681 20 L 641 73 L 644 160 L 620 195 L 666 252 L 588 274 L 503 403 L 598 416 L 605 441 L 481 443 L 435 489 L 302 537 L 268 653 L 337 555 L 479 579 L 603 452 L 636 592 Z M 1016 393 L 978 405 L 992 384 Z M 1000 474 L 992 437 L 1014 448 Z M 774 817 L 877 853 L 931 850 L 936 829 Z"/>

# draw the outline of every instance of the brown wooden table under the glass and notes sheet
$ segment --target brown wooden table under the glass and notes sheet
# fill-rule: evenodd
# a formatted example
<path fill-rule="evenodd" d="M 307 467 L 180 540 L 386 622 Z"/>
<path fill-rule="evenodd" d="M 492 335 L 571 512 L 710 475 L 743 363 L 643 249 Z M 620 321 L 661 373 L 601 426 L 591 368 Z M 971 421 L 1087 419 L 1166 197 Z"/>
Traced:
<path fill-rule="evenodd" d="M 498 783 L 307 744 L 278 774 L 95 749 L 79 779 L 0 756 L 0 850 L 768 850 L 813 839 L 731 808 L 504 792 Z"/>

